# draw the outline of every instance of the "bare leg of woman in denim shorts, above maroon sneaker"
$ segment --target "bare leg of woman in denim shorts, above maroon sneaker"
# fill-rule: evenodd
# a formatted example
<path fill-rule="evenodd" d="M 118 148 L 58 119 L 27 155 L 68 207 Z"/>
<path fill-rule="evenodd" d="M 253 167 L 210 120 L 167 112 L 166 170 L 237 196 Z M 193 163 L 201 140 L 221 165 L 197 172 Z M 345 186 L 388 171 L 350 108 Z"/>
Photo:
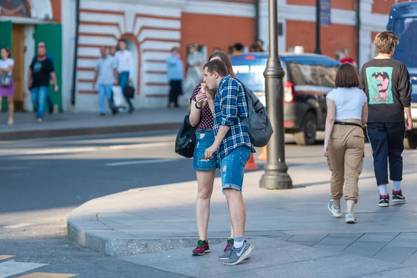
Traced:
<path fill-rule="evenodd" d="M 207 240 L 208 220 L 210 218 L 210 199 L 211 193 L 213 193 L 215 170 L 196 172 L 198 183 L 197 202 L 195 204 L 197 230 L 199 238 Z"/>

